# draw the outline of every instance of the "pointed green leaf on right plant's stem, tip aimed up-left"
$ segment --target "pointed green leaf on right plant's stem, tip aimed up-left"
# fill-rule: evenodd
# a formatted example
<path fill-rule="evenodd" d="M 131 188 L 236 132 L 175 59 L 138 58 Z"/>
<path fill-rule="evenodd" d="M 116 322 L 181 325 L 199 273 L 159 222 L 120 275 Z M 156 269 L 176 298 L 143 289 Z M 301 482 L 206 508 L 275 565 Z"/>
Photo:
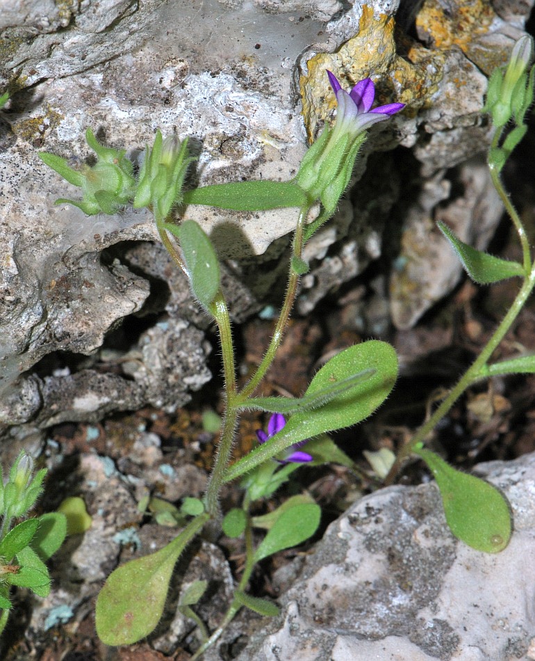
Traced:
<path fill-rule="evenodd" d="M 470 278 L 479 285 L 490 285 L 492 282 L 507 280 L 514 276 L 520 276 L 520 278 L 524 276 L 524 269 L 518 262 L 502 260 L 500 257 L 494 257 L 482 250 L 472 248 L 456 237 L 444 223 L 438 223 L 438 228 L 450 241 Z"/>

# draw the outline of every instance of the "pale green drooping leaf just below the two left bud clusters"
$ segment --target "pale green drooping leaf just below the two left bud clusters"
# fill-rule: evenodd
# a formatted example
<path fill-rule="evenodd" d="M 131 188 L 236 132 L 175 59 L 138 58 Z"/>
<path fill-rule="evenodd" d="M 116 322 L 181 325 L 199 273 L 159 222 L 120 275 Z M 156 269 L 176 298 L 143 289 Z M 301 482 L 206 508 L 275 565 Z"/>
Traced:
<path fill-rule="evenodd" d="M 179 237 L 192 292 L 208 308 L 220 287 L 220 267 L 212 242 L 195 221 L 183 221 L 178 226 L 166 223 L 164 228 Z"/>

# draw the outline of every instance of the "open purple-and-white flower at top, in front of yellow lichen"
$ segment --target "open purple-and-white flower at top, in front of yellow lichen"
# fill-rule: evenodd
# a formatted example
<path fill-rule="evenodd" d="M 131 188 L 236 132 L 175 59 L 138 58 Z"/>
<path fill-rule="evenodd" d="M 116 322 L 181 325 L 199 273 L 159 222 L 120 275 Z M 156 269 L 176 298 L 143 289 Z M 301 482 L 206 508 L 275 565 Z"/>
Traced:
<path fill-rule="evenodd" d="M 340 133 L 356 136 L 372 124 L 388 119 L 390 115 L 395 115 L 405 107 L 404 103 L 388 103 L 370 110 L 375 100 L 375 85 L 371 78 L 359 81 L 348 93 L 342 89 L 333 73 L 327 71 L 327 76 L 338 102 L 334 138 Z"/>

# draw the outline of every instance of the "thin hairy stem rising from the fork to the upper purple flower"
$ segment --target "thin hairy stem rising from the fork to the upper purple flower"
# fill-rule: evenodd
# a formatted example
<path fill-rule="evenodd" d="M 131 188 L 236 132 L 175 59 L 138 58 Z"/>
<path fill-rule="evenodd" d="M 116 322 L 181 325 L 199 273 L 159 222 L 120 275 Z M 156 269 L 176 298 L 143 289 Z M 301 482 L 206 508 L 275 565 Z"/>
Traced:
<path fill-rule="evenodd" d="M 304 223 L 306 221 L 306 217 L 308 216 L 309 211 L 310 211 L 310 207 L 303 207 L 299 212 L 299 220 L 297 221 L 297 228 L 295 229 L 295 235 L 293 239 L 293 257 L 296 257 L 297 259 L 301 259 L 301 254 L 303 250 Z M 245 385 L 245 387 L 242 388 L 242 391 L 240 392 L 240 399 L 245 399 L 250 395 L 252 395 L 252 393 L 256 390 L 256 388 L 258 388 L 258 384 L 264 378 L 265 373 L 268 372 L 268 369 L 270 369 L 271 364 L 275 358 L 275 354 L 277 353 L 277 349 L 279 349 L 279 345 L 281 344 L 284 330 L 286 330 L 286 326 L 288 324 L 288 319 L 290 318 L 290 312 L 293 308 L 295 295 L 297 294 L 298 283 L 299 283 L 299 276 L 292 269 L 292 265 L 290 261 L 290 273 L 288 276 L 288 287 L 286 288 L 286 296 L 284 298 L 284 303 L 281 308 L 281 314 L 279 314 L 277 326 L 275 326 L 275 330 L 271 338 L 270 346 L 268 347 L 268 350 L 265 352 L 265 356 L 262 362 L 256 368 L 256 372 L 253 374 L 253 376 L 251 377 L 249 382 Z"/>

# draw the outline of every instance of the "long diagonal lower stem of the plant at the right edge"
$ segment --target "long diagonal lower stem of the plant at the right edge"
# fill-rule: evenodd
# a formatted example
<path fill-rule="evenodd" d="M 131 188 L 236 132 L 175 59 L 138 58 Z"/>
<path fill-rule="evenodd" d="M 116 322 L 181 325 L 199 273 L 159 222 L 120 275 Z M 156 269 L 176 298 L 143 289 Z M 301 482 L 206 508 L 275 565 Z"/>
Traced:
<path fill-rule="evenodd" d="M 452 408 L 455 401 L 461 397 L 463 392 L 470 385 L 472 385 L 472 383 L 479 381 L 482 376 L 486 375 L 488 372 L 488 359 L 491 358 L 491 355 L 497 348 L 498 344 L 500 344 L 504 338 L 504 335 L 507 333 L 509 328 L 511 328 L 511 325 L 515 321 L 516 317 L 518 317 L 520 310 L 522 310 L 522 307 L 525 305 L 525 302 L 527 301 L 529 294 L 532 293 L 534 287 L 535 266 L 532 266 L 532 270 L 527 278 L 525 278 L 520 291 L 516 295 L 516 298 L 511 305 L 511 308 L 509 308 L 504 319 L 502 319 L 500 325 L 496 328 L 491 339 L 488 340 L 482 352 L 479 353 L 479 356 L 477 356 L 472 365 L 467 369 L 463 376 L 461 376 L 461 379 L 459 379 L 454 388 L 450 390 L 450 393 L 447 395 L 447 397 L 445 397 L 445 399 L 443 399 L 440 406 L 436 408 L 436 411 L 434 411 L 433 415 L 429 417 L 429 420 L 422 424 L 422 427 L 418 429 L 418 431 L 411 439 L 411 442 L 407 443 L 407 445 L 402 447 L 400 450 L 400 453 L 398 454 L 393 467 L 390 469 L 390 472 L 388 472 L 388 475 L 386 476 L 386 485 L 393 483 L 395 476 L 397 475 L 398 470 L 400 470 L 404 460 L 413 452 L 414 447 L 418 445 L 418 443 L 425 442 L 427 435 L 432 431 L 432 429 L 434 429 L 438 421 L 441 420 L 441 418 L 444 417 L 448 411 L 450 411 L 450 408 Z"/>

